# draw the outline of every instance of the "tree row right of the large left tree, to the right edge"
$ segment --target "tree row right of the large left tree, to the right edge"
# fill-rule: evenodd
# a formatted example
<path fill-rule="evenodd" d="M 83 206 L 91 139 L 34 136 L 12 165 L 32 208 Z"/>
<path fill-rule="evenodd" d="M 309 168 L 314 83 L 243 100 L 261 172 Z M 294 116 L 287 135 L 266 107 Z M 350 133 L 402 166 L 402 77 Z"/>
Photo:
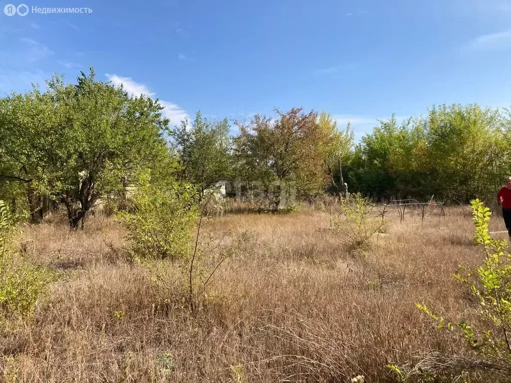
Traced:
<path fill-rule="evenodd" d="M 350 125 L 326 112 L 276 111 L 248 123 L 208 122 L 200 113 L 174 130 L 182 176 L 201 185 L 238 177 L 294 185 L 298 196 L 358 192 L 374 200 L 493 201 L 511 173 L 511 117 L 473 105 L 433 106 L 426 117 L 381 121 L 354 142 Z M 213 149 L 215 148 L 215 149 Z"/>

